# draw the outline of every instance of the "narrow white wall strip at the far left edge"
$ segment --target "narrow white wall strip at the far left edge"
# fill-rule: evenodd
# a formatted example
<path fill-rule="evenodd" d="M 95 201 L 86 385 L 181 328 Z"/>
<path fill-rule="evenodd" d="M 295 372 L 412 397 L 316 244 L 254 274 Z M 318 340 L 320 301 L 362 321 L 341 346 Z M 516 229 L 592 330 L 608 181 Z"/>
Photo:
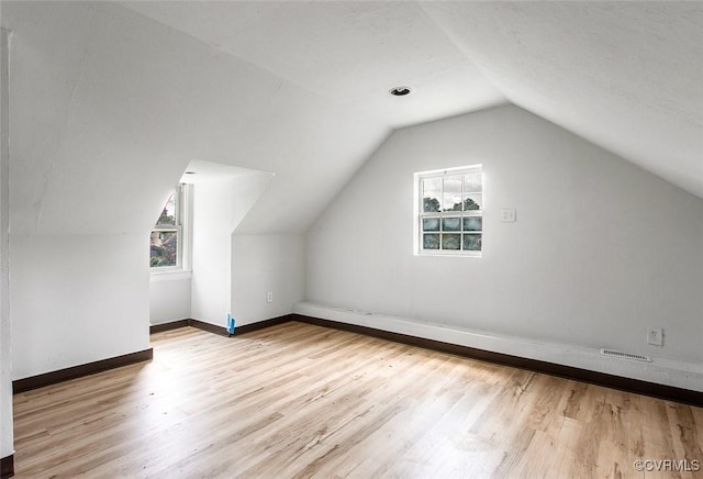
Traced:
<path fill-rule="evenodd" d="M 0 15 L 2 5 L 0 4 Z M 0 458 L 13 454 L 9 270 L 8 32 L 0 29 Z"/>

